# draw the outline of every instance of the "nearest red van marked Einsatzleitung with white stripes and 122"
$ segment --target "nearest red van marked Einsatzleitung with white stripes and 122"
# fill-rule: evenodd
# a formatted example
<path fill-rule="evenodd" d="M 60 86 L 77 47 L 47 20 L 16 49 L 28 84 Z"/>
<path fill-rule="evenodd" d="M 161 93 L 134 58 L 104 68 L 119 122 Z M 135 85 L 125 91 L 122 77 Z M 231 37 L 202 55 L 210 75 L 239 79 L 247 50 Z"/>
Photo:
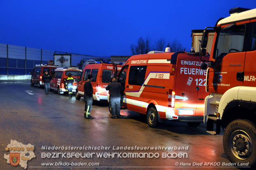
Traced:
<path fill-rule="evenodd" d="M 209 59 L 209 57 L 203 57 Z M 130 57 L 118 82 L 125 88 L 124 109 L 147 114 L 156 127 L 162 119 L 181 120 L 198 126 L 204 119 L 206 71 L 200 57 L 187 52 L 149 52 Z"/>

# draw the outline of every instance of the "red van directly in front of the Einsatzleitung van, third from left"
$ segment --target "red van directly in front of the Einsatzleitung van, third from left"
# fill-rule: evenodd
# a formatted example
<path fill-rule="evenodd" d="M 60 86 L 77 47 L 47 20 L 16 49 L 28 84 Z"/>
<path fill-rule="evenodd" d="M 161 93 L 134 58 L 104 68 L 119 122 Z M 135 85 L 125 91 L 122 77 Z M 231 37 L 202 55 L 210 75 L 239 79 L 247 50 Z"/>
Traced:
<path fill-rule="evenodd" d="M 81 97 L 83 97 L 83 86 L 85 84 L 85 81 L 87 80 L 88 74 L 91 74 L 93 77 L 91 81 L 93 89 L 93 100 L 107 100 L 109 91 L 106 90 L 106 87 L 111 81 L 111 78 L 115 77 L 114 74 L 119 73 L 121 68 L 121 65 L 117 64 L 87 64 L 83 69 L 83 74 L 81 78 L 78 80 L 76 99 L 79 100 Z"/>

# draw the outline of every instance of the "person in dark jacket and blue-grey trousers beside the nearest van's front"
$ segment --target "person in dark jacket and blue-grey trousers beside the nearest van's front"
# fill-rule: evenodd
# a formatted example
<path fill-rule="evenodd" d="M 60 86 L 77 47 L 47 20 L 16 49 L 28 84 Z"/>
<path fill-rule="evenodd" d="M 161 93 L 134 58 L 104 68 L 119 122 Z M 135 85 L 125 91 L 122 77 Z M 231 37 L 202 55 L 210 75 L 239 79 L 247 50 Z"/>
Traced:
<path fill-rule="evenodd" d="M 121 91 L 123 90 L 120 83 L 116 82 L 116 78 L 112 79 L 112 83 L 106 87 L 106 90 L 109 90 L 109 104 L 112 110 L 112 116 L 110 118 L 121 118 L 120 115 L 120 97 Z"/>

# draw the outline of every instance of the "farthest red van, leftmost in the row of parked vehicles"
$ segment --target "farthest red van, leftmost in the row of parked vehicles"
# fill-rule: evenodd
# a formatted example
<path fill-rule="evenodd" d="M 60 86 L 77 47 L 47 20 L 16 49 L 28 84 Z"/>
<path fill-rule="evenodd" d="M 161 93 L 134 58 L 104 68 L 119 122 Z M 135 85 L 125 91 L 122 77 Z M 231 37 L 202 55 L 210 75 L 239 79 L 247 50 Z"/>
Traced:
<path fill-rule="evenodd" d="M 42 80 L 43 74 L 47 70 L 50 75 L 55 71 L 55 69 L 58 68 L 58 66 L 53 65 L 47 65 L 47 64 L 36 64 L 36 66 L 33 69 L 33 73 L 31 74 L 31 80 L 30 85 L 37 85 L 37 87 L 41 87 L 44 85 L 44 82 Z"/>

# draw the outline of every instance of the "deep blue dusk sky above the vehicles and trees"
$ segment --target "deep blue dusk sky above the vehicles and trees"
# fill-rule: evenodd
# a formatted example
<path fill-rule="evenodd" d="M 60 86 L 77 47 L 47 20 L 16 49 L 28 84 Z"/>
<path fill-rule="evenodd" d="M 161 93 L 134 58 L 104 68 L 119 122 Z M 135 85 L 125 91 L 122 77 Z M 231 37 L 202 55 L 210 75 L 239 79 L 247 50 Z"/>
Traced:
<path fill-rule="evenodd" d="M 0 0 L 0 43 L 88 54 L 131 55 L 130 45 L 177 38 L 190 50 L 191 30 L 214 26 L 233 7 L 256 0 Z"/>

